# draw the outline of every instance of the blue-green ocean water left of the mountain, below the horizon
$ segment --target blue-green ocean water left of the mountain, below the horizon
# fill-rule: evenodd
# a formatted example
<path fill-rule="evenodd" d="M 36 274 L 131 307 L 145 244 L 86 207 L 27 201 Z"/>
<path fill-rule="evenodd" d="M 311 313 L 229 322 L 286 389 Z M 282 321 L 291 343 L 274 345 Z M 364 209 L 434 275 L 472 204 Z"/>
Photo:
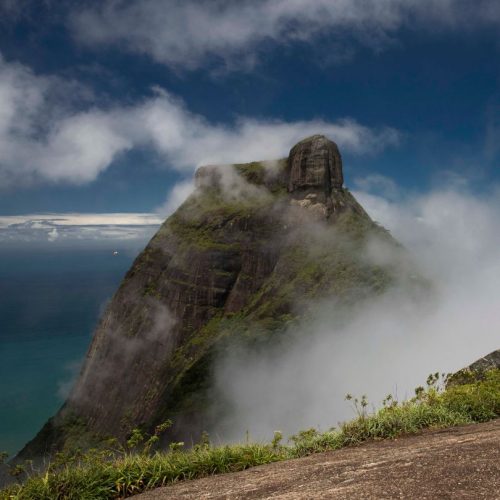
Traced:
<path fill-rule="evenodd" d="M 0 451 L 19 451 L 63 403 L 137 242 L 114 250 L 0 248 Z"/>

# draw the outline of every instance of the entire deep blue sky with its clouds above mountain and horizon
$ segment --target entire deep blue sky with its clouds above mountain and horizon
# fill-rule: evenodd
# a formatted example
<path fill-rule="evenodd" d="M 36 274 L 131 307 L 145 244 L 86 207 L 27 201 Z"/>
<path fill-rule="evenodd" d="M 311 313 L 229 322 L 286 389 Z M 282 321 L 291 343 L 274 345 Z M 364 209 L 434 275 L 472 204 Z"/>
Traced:
<path fill-rule="evenodd" d="M 496 0 L 2 0 L 0 237 L 47 214 L 161 220 L 196 167 L 314 133 L 348 187 L 488 193 L 499 33 Z"/>

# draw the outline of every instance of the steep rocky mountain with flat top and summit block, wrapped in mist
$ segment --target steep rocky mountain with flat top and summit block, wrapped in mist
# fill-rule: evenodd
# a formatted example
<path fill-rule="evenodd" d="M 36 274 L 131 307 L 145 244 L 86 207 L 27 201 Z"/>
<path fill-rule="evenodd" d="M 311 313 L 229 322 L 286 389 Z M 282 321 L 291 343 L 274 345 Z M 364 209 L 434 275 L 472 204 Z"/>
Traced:
<path fill-rule="evenodd" d="M 202 167 L 196 185 L 136 258 L 71 396 L 20 456 L 123 439 L 167 417 L 196 441 L 213 418 L 214 360 L 232 340 L 270 342 L 315 299 L 359 303 L 394 279 L 364 247 L 378 238 L 402 250 L 343 188 L 324 136 L 287 159 Z"/>

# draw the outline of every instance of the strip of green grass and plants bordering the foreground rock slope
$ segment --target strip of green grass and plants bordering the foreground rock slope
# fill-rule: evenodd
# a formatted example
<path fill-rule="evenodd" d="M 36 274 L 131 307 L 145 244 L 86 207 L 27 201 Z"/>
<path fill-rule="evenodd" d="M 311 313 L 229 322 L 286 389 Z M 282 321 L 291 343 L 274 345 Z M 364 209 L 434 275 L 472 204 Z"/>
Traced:
<path fill-rule="evenodd" d="M 427 387 L 416 389 L 411 400 L 398 402 L 388 396 L 383 407 L 368 414 L 366 397 L 347 396 L 357 417 L 339 429 L 320 433 L 309 429 L 282 444 L 276 432 L 270 443 L 213 446 L 208 436 L 192 449 L 173 443 L 167 452 L 152 452 L 159 434 L 171 422 L 156 429 L 152 436 L 134 430 L 127 443 L 113 449 L 91 450 L 72 457 L 59 455 L 46 473 L 32 473 L 24 484 L 0 492 L 0 499 L 99 499 L 123 498 L 175 481 L 244 470 L 249 467 L 336 450 L 370 439 L 394 438 L 428 428 L 485 422 L 500 417 L 500 369 L 469 376 L 467 383 L 441 386 L 439 374 L 430 375 Z M 14 474 L 20 475 L 17 466 Z"/>

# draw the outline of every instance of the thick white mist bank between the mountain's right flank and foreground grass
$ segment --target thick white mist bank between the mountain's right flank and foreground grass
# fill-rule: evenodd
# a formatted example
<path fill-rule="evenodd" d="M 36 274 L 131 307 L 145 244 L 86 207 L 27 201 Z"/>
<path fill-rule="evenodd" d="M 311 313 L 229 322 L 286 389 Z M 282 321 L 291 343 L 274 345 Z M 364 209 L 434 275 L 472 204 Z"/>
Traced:
<path fill-rule="evenodd" d="M 456 371 L 500 347 L 498 189 L 482 195 L 455 186 L 418 195 L 391 191 L 390 198 L 354 194 L 405 246 L 408 261 L 432 285 L 427 296 L 398 283 L 341 326 L 335 300 L 325 297 L 286 345 L 225 355 L 215 389 L 231 411 L 212 435 L 235 441 L 246 432 L 268 439 L 275 430 L 326 430 L 354 416 L 347 393 L 366 394 L 373 409 L 389 393 L 399 400 L 413 396 L 429 373 Z M 364 257 L 395 264 L 391 249 L 376 241 Z"/>

